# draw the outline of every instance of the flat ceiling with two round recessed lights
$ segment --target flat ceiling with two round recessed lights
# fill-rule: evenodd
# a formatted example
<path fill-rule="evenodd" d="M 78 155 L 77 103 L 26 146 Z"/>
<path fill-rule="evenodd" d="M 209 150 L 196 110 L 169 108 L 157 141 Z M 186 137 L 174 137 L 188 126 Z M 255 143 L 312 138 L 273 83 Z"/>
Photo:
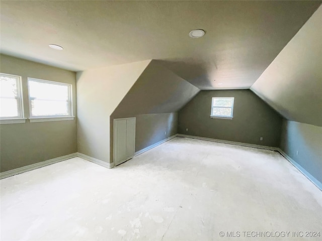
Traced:
<path fill-rule="evenodd" d="M 1 53 L 72 71 L 155 59 L 201 89 L 249 88 L 320 4 L 1 1 Z"/>

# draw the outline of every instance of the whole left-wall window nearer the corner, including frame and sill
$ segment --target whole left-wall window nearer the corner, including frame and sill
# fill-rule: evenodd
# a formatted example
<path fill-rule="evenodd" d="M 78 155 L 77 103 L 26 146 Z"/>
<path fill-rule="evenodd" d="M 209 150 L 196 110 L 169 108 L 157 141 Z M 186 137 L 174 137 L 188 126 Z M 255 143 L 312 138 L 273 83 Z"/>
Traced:
<path fill-rule="evenodd" d="M 71 85 L 28 78 L 30 122 L 73 119 Z"/>

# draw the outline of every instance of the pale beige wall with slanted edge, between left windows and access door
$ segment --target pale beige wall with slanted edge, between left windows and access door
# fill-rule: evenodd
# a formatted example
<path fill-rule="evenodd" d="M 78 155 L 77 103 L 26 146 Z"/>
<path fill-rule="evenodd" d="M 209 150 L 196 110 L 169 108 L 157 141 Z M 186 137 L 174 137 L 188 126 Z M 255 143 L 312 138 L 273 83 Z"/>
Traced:
<path fill-rule="evenodd" d="M 77 72 L 78 152 L 110 161 L 110 115 L 150 60 Z"/>

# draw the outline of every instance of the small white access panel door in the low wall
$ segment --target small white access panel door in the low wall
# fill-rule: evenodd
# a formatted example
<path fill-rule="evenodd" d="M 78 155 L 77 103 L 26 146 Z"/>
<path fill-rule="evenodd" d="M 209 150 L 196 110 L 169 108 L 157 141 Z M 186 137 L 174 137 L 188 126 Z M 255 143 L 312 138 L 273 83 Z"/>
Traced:
<path fill-rule="evenodd" d="M 135 152 L 135 117 L 114 119 L 115 166 L 131 159 Z"/>

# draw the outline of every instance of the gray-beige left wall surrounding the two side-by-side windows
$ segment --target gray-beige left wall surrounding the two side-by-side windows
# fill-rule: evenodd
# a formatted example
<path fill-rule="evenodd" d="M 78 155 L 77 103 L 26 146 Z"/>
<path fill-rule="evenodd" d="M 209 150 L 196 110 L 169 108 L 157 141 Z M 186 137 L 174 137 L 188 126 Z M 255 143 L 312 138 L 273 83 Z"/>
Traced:
<path fill-rule="evenodd" d="M 22 77 L 24 115 L 29 117 L 27 77 L 72 84 L 76 115 L 75 73 L 27 60 L 1 55 L 1 72 Z M 1 172 L 77 152 L 74 121 L 0 125 Z"/>

